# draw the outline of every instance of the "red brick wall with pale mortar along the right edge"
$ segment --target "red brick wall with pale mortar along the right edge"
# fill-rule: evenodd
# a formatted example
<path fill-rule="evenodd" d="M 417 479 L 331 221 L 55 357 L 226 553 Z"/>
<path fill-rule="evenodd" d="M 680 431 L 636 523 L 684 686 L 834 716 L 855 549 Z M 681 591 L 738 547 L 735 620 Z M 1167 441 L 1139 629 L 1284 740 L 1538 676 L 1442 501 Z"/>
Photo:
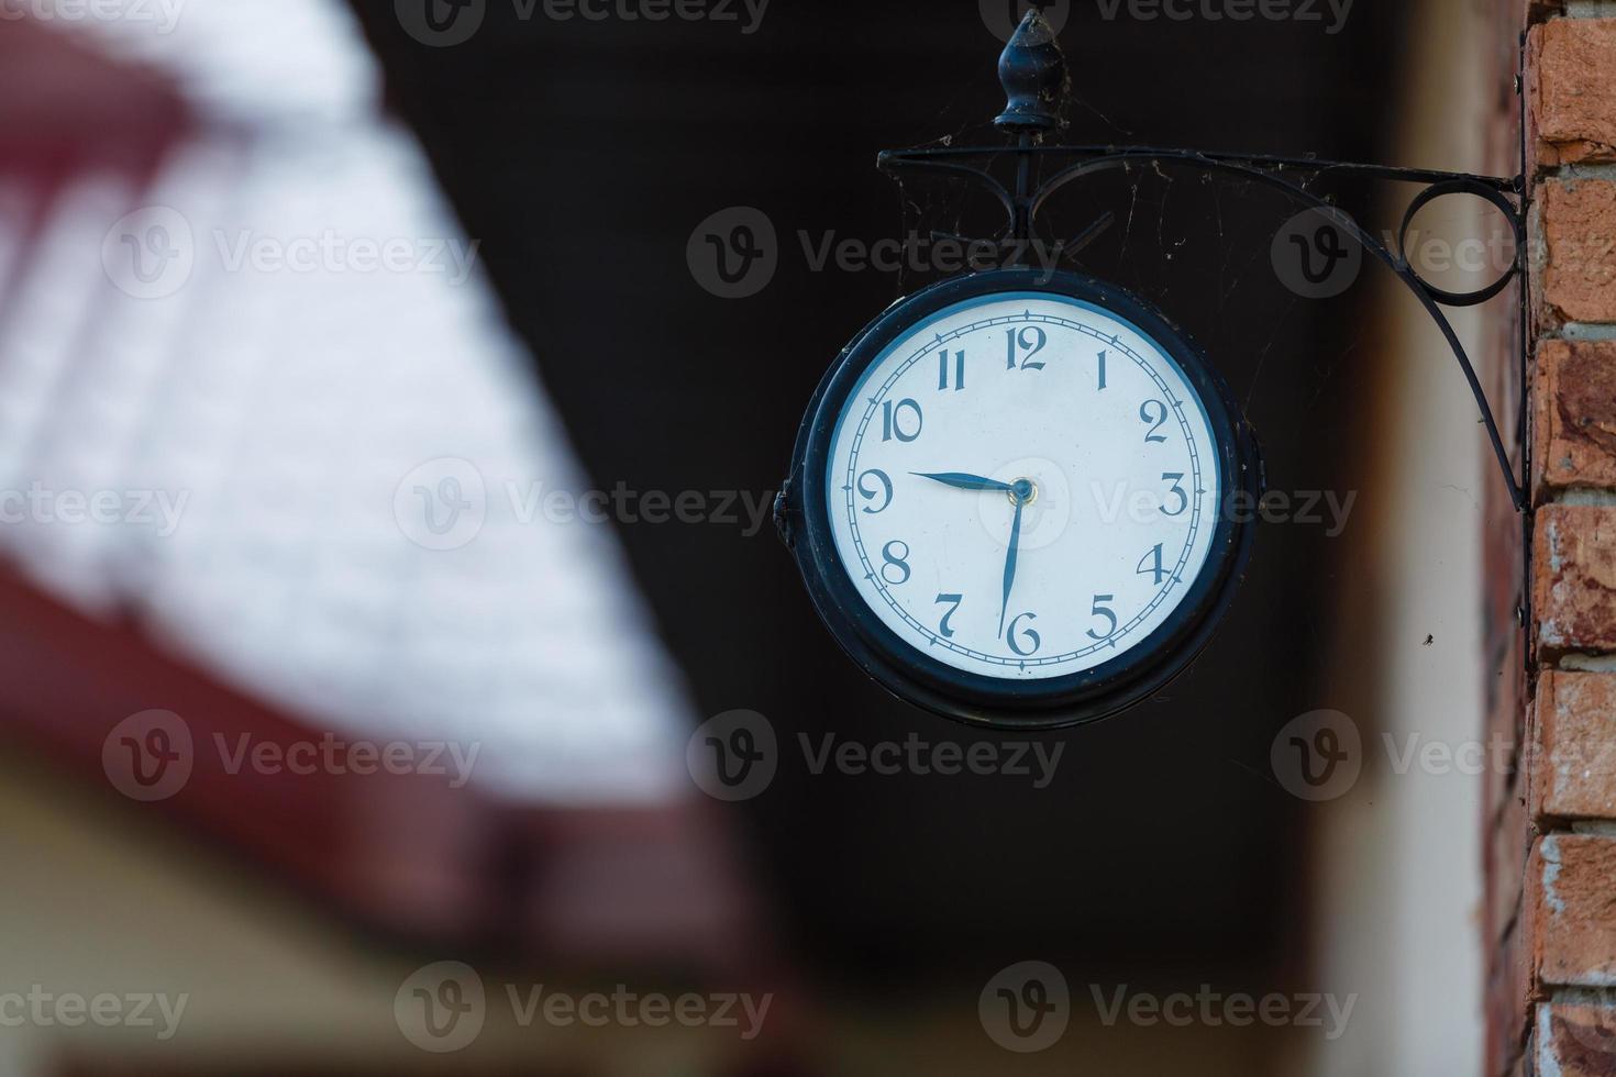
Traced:
<path fill-rule="evenodd" d="M 1504 5 L 1509 52 L 1527 29 L 1532 512 L 1514 526 L 1493 491 L 1488 725 L 1517 748 L 1487 793 L 1487 1077 L 1616 1075 L 1616 5 Z"/>

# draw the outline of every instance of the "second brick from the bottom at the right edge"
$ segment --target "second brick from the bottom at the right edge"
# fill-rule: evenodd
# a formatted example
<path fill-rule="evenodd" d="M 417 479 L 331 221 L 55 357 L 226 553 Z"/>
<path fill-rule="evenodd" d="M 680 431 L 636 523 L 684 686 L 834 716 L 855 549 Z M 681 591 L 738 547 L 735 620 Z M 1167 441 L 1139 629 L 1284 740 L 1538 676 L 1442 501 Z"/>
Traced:
<path fill-rule="evenodd" d="M 1527 875 L 1535 982 L 1616 987 L 1616 838 L 1548 835 Z"/>

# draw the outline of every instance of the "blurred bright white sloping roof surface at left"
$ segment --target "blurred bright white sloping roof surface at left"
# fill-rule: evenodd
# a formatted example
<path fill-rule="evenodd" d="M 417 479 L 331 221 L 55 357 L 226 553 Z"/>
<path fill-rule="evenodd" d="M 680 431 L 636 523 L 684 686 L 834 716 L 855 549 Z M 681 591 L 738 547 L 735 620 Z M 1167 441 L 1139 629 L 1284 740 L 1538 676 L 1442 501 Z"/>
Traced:
<path fill-rule="evenodd" d="M 95 158 L 120 119 L 48 182 L 0 161 L 0 492 L 50 494 L 0 559 L 320 728 L 475 744 L 496 796 L 685 796 L 682 677 L 349 6 L 27 10 L 0 65 L 44 29 L 192 123 L 155 166 Z"/>

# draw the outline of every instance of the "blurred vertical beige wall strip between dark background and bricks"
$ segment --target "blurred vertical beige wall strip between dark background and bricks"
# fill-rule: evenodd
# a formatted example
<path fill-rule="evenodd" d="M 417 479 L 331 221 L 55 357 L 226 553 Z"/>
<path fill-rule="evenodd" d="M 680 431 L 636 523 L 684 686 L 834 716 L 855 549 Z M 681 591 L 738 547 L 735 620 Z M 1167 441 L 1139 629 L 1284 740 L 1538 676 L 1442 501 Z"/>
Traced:
<path fill-rule="evenodd" d="M 1406 103 L 1391 163 L 1487 171 L 1483 86 L 1490 26 L 1467 0 L 1416 5 L 1404 69 Z M 1380 221 L 1401 216 L 1416 187 L 1388 191 Z M 1396 205 L 1393 205 L 1396 202 Z M 1462 237 L 1467 200 L 1432 207 L 1420 221 Z M 1398 773 L 1398 751 L 1482 738 L 1480 520 L 1483 483 L 1496 483 L 1475 405 L 1438 329 L 1390 274 L 1372 270 L 1375 323 L 1357 354 L 1378 367 L 1364 413 L 1366 454 L 1354 551 L 1343 580 L 1348 631 L 1335 670 L 1364 738 L 1353 793 L 1314 812 L 1319 895 L 1315 959 L 1324 990 L 1359 991 L 1349 1033 L 1309 1059 L 1320 1077 L 1453 1077 L 1482 1069 L 1482 778 Z M 1450 312 L 1471 354 L 1498 304 Z M 1372 513 L 1372 515 L 1369 515 Z M 1427 636 L 1430 644 L 1425 644 Z M 1366 678 L 1374 670 L 1377 677 Z M 1343 707 L 1348 709 L 1348 707 Z"/>

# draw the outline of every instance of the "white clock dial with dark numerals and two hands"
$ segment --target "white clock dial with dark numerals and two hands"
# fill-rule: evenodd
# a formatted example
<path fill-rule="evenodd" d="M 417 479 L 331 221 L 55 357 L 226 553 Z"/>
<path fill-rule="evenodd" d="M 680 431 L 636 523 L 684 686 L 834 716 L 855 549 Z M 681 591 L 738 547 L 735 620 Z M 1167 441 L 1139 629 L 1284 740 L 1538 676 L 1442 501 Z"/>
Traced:
<path fill-rule="evenodd" d="M 858 596 L 958 670 L 1042 680 L 1139 646 L 1217 530 L 1218 447 L 1117 315 L 1002 292 L 918 321 L 847 397 L 826 499 Z"/>

